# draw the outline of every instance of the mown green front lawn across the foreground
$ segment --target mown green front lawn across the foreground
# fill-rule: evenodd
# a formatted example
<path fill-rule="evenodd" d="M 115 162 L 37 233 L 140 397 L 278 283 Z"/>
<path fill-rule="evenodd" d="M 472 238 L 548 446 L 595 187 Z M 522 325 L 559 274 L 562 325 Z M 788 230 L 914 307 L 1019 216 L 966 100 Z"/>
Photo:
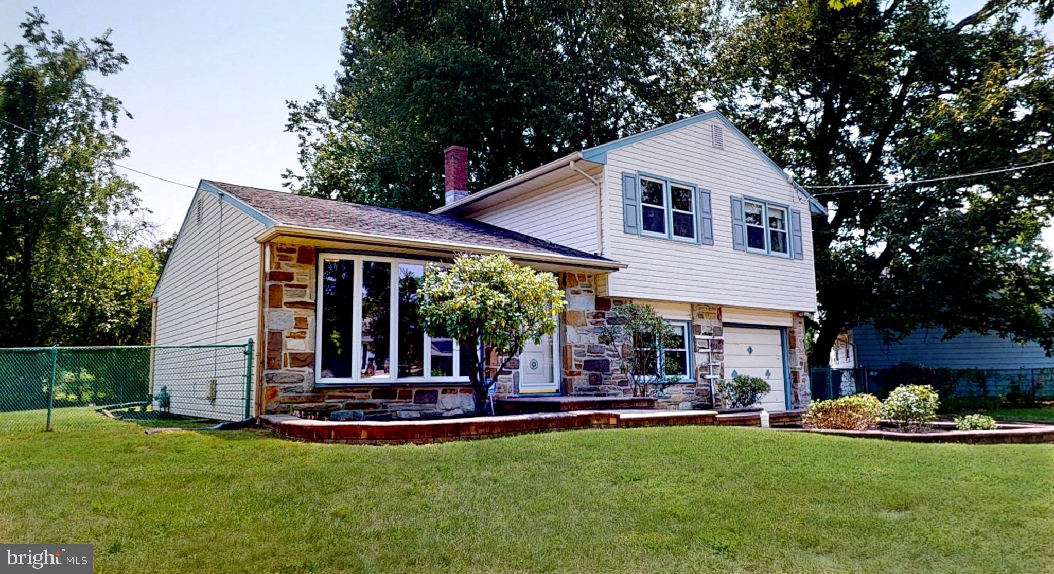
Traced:
<path fill-rule="evenodd" d="M 106 572 L 1049 572 L 1052 475 L 1048 444 L 682 427 L 370 448 L 98 417 L 0 433 L 0 540 L 94 542 Z"/>

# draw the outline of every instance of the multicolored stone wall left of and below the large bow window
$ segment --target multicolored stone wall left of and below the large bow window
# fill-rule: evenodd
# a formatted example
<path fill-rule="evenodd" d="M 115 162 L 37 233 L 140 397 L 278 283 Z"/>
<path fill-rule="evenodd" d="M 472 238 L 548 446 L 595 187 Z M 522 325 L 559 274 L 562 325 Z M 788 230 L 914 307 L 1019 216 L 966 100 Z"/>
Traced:
<path fill-rule="evenodd" d="M 474 409 L 472 390 L 464 384 L 315 387 L 315 250 L 280 243 L 268 249 L 264 413 L 350 410 L 415 418 Z"/>

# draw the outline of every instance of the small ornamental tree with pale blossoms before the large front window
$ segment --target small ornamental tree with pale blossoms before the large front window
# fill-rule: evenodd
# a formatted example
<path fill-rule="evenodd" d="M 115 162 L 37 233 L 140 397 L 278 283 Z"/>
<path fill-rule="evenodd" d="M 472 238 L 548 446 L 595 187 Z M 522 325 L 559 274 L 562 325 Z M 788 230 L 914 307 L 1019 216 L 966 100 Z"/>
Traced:
<path fill-rule="evenodd" d="M 532 341 L 557 330 L 564 292 L 551 273 L 519 265 L 504 255 L 460 255 L 449 269 L 430 264 L 417 291 L 422 325 L 433 337 L 450 337 L 462 349 L 486 342 L 501 364 L 487 377 L 479 353 L 465 353 L 468 377 L 482 412 L 497 374 Z"/>

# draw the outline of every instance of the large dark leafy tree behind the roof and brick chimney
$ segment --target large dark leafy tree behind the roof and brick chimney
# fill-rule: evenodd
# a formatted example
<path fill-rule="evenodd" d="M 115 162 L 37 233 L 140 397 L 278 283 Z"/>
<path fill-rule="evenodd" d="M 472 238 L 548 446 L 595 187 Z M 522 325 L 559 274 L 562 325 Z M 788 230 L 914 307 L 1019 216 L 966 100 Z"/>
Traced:
<path fill-rule="evenodd" d="M 304 194 L 427 210 L 443 154 L 475 189 L 691 114 L 707 42 L 698 0 L 352 4 L 333 91 L 289 102 Z"/>

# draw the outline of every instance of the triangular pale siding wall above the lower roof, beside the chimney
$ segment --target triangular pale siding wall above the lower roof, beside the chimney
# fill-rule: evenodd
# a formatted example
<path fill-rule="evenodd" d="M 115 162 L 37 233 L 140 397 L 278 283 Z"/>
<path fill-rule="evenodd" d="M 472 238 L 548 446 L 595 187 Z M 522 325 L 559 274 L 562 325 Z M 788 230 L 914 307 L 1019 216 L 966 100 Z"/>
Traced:
<path fill-rule="evenodd" d="M 598 177 L 599 172 L 591 175 Z M 553 243 L 597 253 L 597 186 L 581 176 L 468 216 Z"/>

